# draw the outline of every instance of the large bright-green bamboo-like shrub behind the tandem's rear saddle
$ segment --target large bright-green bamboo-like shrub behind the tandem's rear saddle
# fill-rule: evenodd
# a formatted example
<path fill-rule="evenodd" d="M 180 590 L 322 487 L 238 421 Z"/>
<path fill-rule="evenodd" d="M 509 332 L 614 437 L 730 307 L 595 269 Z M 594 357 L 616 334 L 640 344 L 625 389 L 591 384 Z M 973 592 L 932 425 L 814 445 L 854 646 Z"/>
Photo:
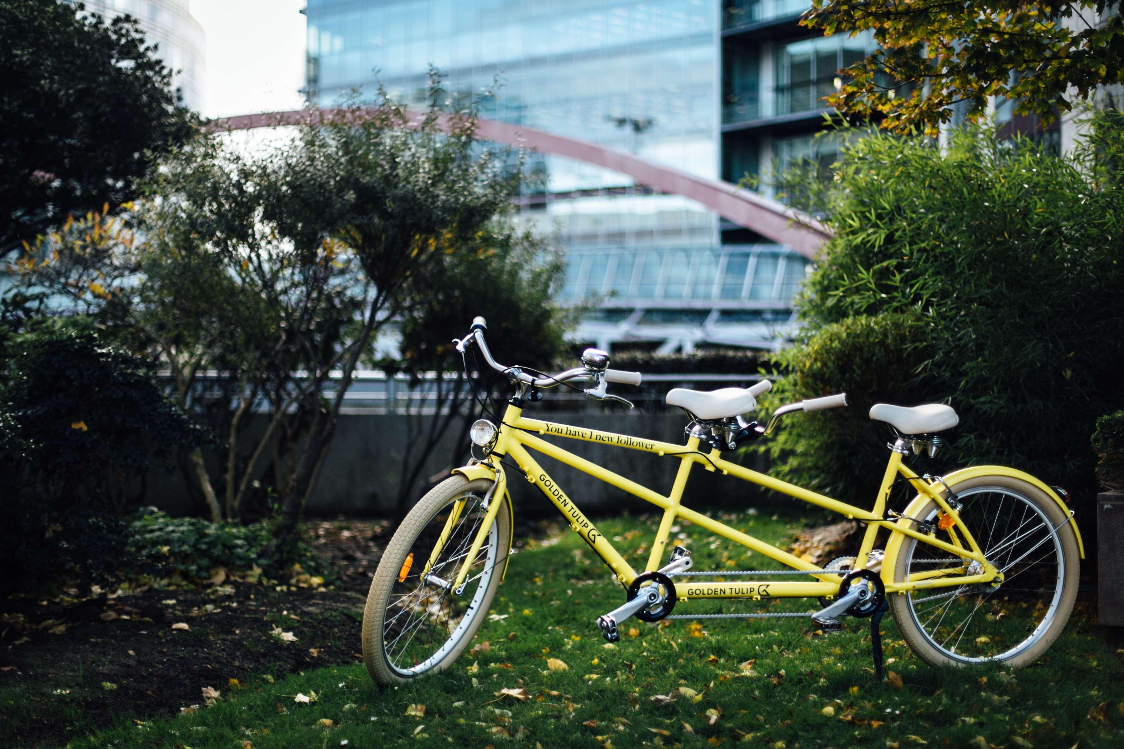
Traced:
<path fill-rule="evenodd" d="M 800 300 L 807 337 L 781 357 L 795 392 L 818 394 L 799 384 L 808 367 L 831 375 L 816 383 L 830 391 L 846 389 L 854 367 L 883 376 L 877 356 L 851 358 L 862 348 L 816 348 L 822 335 L 835 341 L 832 326 L 916 317 L 913 384 L 886 400 L 945 400 L 960 414 L 949 432 L 960 463 L 1010 465 L 1087 500 L 1087 436 L 1098 415 L 1124 405 L 1120 164 L 1118 113 L 1097 115 L 1064 158 L 987 128 L 963 130 L 945 152 L 921 137 L 846 145 L 830 201 L 835 234 Z M 788 420 L 787 475 L 813 481 L 840 468 L 837 454 L 799 447 L 853 440 L 854 423 L 836 414 Z M 886 456 L 877 453 L 855 454 L 851 472 L 878 475 Z M 868 485 L 841 486 L 841 499 L 860 497 L 869 502 Z"/>

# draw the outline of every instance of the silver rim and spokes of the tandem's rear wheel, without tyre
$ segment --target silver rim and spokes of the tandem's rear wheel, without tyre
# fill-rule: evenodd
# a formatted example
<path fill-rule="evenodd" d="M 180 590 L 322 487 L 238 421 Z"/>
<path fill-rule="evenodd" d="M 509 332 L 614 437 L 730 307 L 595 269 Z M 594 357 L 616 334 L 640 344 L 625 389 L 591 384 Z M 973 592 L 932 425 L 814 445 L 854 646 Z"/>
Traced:
<path fill-rule="evenodd" d="M 980 486 L 958 497 L 963 502 L 961 520 L 988 561 L 1005 574 L 1004 583 L 997 588 L 976 584 L 913 591 L 906 594 L 909 614 L 925 639 L 949 658 L 962 664 L 1009 660 L 1034 647 L 1057 618 L 1066 578 L 1061 538 L 1037 505 L 1012 490 Z M 934 509 L 924 520 L 936 515 Z M 950 555 L 913 541 L 907 578 L 941 568 L 924 561 L 933 557 Z"/>

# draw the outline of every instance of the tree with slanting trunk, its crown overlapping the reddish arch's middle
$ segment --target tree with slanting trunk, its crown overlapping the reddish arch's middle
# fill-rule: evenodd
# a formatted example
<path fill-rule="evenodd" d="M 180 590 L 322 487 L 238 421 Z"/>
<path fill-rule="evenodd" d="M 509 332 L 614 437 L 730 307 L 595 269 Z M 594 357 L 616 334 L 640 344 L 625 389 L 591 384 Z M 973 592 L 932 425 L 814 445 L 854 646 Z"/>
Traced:
<path fill-rule="evenodd" d="M 337 243 L 355 257 L 373 289 L 348 331 L 341 377 L 318 401 L 289 484 L 272 555 L 291 541 L 347 389 L 369 344 L 407 308 L 411 278 L 439 258 L 487 246 L 496 221 L 510 214 L 524 157 L 475 140 L 477 102 L 448 112 L 430 73 L 428 106 L 407 111 L 380 89 L 373 104 L 354 101 L 300 129 L 292 148 L 265 166 L 263 213 L 297 252 Z"/>

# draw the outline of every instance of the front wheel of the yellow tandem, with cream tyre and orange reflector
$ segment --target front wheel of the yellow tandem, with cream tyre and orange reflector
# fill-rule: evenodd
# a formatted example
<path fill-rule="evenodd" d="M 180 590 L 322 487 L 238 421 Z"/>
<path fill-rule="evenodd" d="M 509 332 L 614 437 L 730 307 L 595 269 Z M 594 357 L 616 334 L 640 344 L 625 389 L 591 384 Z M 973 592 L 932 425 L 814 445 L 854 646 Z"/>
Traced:
<path fill-rule="evenodd" d="M 511 515 L 504 497 L 461 595 L 452 583 L 484 519 L 492 482 L 446 478 L 410 510 L 382 554 L 363 611 L 363 663 L 378 684 L 404 684 L 447 668 L 488 611 L 509 552 Z M 432 558 L 432 564 L 429 563 Z"/>

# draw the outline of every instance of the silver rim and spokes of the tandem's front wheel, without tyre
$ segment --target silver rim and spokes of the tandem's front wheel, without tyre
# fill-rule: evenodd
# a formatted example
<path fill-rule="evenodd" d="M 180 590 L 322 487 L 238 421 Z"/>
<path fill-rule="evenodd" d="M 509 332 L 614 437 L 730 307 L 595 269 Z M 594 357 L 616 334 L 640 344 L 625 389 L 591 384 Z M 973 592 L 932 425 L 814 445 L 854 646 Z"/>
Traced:
<path fill-rule="evenodd" d="M 423 528 L 411 546 L 411 549 L 415 548 L 430 530 L 434 521 L 441 518 L 443 512 L 450 511 L 460 500 L 466 501 L 464 510 L 430 570 L 433 575 L 448 582 L 453 582 L 460 570 L 460 565 L 468 555 L 483 520 L 479 495 L 464 494 L 450 500 L 448 504 L 430 519 L 426 528 Z M 435 533 L 430 532 L 429 536 L 430 539 L 435 538 Z M 464 583 L 464 593 L 471 593 L 471 597 L 468 599 L 463 611 L 459 611 L 454 615 L 450 615 L 451 606 L 459 606 L 463 597 L 453 596 L 452 592 L 423 582 L 420 578 L 425 559 L 428 559 L 429 551 L 433 549 L 432 542 L 423 541 L 423 545 L 428 547 L 425 549 L 425 556 L 420 559 L 415 557 L 414 563 L 417 567 L 411 568 L 411 574 L 406 578 L 408 583 L 413 581 L 415 585 L 413 590 L 399 594 L 396 594 L 396 588 L 402 584 L 391 585 L 390 596 L 383 613 L 382 632 L 379 634 L 387 665 L 395 674 L 404 677 L 418 676 L 439 665 L 460 645 L 469 628 L 482 613 L 481 605 L 492 575 L 496 573 L 499 527 L 496 520 L 492 520 L 488 536 L 477 552 L 475 559 L 469 568 L 469 577 Z M 415 647 L 411 649 L 411 646 Z M 419 656 L 419 654 L 425 655 L 426 652 L 428 652 L 426 657 Z"/>

